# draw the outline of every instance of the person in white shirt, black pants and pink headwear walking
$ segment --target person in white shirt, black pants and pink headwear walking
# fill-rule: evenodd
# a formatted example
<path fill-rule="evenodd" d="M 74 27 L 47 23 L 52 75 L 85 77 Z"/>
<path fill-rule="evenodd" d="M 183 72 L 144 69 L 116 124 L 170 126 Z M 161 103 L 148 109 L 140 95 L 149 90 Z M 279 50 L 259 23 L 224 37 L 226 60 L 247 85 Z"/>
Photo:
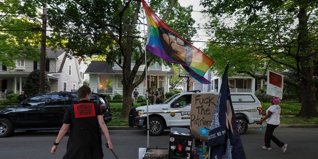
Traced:
<path fill-rule="evenodd" d="M 287 150 L 287 144 L 281 142 L 273 135 L 275 128 L 277 128 L 280 123 L 281 108 L 278 105 L 280 102 L 281 100 L 278 97 L 273 97 L 271 101 L 273 105 L 268 107 L 266 110 L 266 116 L 260 121 L 256 121 L 256 123 L 262 124 L 262 122 L 265 120 L 267 123 L 264 138 L 265 145 L 262 146 L 262 148 L 266 150 L 272 150 L 270 146 L 270 141 L 272 140 L 278 147 L 282 148 L 283 153 L 285 153 Z"/>

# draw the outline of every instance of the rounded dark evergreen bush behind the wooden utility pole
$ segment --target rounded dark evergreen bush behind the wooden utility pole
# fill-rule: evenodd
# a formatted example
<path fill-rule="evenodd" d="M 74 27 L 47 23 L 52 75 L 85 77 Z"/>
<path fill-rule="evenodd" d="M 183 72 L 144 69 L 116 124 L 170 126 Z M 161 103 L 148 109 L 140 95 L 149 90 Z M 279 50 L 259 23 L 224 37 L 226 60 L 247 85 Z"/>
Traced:
<path fill-rule="evenodd" d="M 44 91 L 51 90 L 51 84 L 47 76 L 44 77 Z M 27 77 L 24 85 L 22 86 L 23 91 L 27 96 L 31 96 L 39 93 L 39 82 L 40 82 L 40 70 L 34 70 Z"/>

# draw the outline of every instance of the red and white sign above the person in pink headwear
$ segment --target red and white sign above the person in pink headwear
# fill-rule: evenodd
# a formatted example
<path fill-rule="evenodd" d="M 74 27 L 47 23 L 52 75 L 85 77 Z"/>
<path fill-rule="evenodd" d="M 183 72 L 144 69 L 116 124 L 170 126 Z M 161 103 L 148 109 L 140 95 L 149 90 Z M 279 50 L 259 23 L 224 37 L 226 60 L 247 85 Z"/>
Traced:
<path fill-rule="evenodd" d="M 284 86 L 284 76 L 268 70 L 266 94 L 276 96 L 282 99 L 283 86 Z"/>

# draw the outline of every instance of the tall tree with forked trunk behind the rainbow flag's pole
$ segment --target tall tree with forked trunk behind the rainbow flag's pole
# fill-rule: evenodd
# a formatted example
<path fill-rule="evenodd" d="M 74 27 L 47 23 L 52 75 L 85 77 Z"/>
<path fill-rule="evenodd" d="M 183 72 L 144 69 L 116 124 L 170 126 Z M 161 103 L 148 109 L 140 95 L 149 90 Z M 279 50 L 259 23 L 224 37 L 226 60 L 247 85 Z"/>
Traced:
<path fill-rule="evenodd" d="M 167 25 L 192 26 L 192 6 L 182 7 L 177 0 L 152 0 L 153 8 L 166 8 L 162 20 Z M 127 117 L 131 108 L 132 92 L 145 79 L 145 72 L 136 80 L 141 65 L 145 64 L 144 29 L 142 5 L 137 0 L 52 0 L 48 2 L 49 26 L 53 28 L 52 41 L 77 57 L 94 55 L 103 57 L 110 65 L 118 65 L 123 70 L 123 111 L 121 117 Z M 169 4 L 168 7 L 166 4 Z M 176 9 L 172 9 L 176 7 Z M 168 16 L 170 12 L 174 17 Z M 186 20 L 184 20 L 186 19 Z M 183 23 L 182 23 L 183 22 Z M 140 29 L 141 28 L 141 29 Z M 181 29 L 180 29 L 181 30 Z M 191 30 L 191 31 L 190 31 Z M 178 32 L 189 39 L 195 30 L 185 29 Z M 132 65 L 132 61 L 135 62 Z M 160 59 L 147 53 L 147 66 L 160 62 Z M 161 62 L 160 62 L 161 63 Z"/>

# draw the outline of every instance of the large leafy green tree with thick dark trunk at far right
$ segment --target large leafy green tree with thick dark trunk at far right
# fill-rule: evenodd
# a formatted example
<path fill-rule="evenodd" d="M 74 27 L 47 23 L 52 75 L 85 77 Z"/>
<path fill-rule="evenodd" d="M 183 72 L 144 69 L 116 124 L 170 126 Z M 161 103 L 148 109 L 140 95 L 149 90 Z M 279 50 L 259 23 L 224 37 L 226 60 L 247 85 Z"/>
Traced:
<path fill-rule="evenodd" d="M 284 82 L 302 94 L 299 116 L 317 117 L 314 70 L 318 54 L 318 0 L 201 0 L 211 17 L 211 43 L 206 53 L 215 59 L 213 71 L 242 73 L 265 79 L 268 69 L 292 71 L 300 79 Z M 317 69 L 317 68 L 316 68 Z M 259 74 L 260 73 L 260 74 Z M 316 82 L 317 83 L 317 82 Z"/>

